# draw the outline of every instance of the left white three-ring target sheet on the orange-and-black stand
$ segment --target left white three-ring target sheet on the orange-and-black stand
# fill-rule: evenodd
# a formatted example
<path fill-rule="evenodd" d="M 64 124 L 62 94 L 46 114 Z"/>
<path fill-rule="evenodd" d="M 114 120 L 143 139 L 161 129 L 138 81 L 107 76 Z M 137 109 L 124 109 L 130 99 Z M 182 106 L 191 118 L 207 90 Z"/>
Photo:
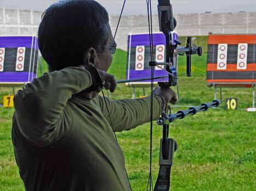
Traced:
<path fill-rule="evenodd" d="M 225 70 L 227 61 L 227 44 L 218 44 L 217 69 Z"/>

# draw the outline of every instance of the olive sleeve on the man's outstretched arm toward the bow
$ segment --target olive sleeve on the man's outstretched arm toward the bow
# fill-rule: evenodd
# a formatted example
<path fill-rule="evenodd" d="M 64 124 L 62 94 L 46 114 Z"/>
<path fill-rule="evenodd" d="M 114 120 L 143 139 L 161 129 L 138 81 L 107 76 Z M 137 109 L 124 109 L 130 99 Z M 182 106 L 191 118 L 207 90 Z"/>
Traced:
<path fill-rule="evenodd" d="M 103 115 L 109 123 L 113 124 L 115 132 L 129 130 L 140 126 L 141 124 L 150 122 L 150 97 L 141 99 L 121 99 L 111 100 L 98 96 L 100 108 Z M 109 114 L 107 108 L 109 109 Z M 156 120 L 161 114 L 161 102 L 153 96 L 153 120 Z M 111 121 L 110 121 L 111 118 Z"/>

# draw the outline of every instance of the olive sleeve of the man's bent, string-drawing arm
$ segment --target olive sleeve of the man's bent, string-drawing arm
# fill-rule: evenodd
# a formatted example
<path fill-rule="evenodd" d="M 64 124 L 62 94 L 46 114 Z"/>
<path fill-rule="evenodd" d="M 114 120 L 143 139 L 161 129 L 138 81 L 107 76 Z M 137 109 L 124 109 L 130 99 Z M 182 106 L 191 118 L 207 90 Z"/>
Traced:
<path fill-rule="evenodd" d="M 14 97 L 14 117 L 21 133 L 38 146 L 63 138 L 72 126 L 71 112 L 66 109 L 68 100 L 90 86 L 92 77 L 83 67 L 45 73 L 27 83 Z"/>

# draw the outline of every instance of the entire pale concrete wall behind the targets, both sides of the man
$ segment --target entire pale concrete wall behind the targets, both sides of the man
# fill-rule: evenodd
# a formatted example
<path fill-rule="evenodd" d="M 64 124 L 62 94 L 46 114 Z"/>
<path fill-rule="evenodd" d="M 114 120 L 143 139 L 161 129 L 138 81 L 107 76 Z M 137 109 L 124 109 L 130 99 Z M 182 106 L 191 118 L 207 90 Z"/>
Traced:
<path fill-rule="evenodd" d="M 36 34 L 42 12 L 20 9 L 0 9 L 0 35 Z M 206 13 L 174 15 L 178 24 L 175 29 L 180 36 L 256 33 L 256 12 L 248 13 Z M 112 33 L 115 33 L 118 16 L 110 16 Z M 153 32 L 159 32 L 158 16 L 152 15 Z M 149 31 L 146 15 L 122 16 L 116 42 L 120 49 L 127 50 L 129 33 Z"/>

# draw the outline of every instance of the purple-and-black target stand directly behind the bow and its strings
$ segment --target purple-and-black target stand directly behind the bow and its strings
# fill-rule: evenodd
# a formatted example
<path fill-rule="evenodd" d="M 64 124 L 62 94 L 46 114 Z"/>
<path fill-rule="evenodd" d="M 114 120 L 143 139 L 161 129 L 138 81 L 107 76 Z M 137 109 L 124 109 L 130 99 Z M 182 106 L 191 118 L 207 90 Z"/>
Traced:
<path fill-rule="evenodd" d="M 153 33 L 153 61 L 165 62 L 166 58 L 166 37 L 163 33 Z M 173 43 L 174 40 L 178 40 L 179 37 L 176 33 L 172 33 Z M 127 51 L 127 68 L 126 68 L 126 79 L 133 80 L 138 78 L 145 78 L 151 76 L 151 67 L 149 62 L 151 61 L 150 56 L 150 40 L 148 33 L 138 33 L 128 35 L 128 51 Z M 176 60 L 173 64 L 176 70 L 178 70 L 178 61 Z M 168 75 L 163 65 L 154 68 L 154 76 L 166 76 Z M 168 81 L 165 79 L 154 80 L 153 85 L 158 86 L 157 82 Z M 144 80 L 140 82 L 129 82 L 127 86 L 133 88 L 133 99 L 135 98 L 135 88 L 143 88 L 145 95 L 145 87 L 150 87 L 150 80 Z M 179 90 L 177 86 L 177 93 L 179 99 Z"/>

